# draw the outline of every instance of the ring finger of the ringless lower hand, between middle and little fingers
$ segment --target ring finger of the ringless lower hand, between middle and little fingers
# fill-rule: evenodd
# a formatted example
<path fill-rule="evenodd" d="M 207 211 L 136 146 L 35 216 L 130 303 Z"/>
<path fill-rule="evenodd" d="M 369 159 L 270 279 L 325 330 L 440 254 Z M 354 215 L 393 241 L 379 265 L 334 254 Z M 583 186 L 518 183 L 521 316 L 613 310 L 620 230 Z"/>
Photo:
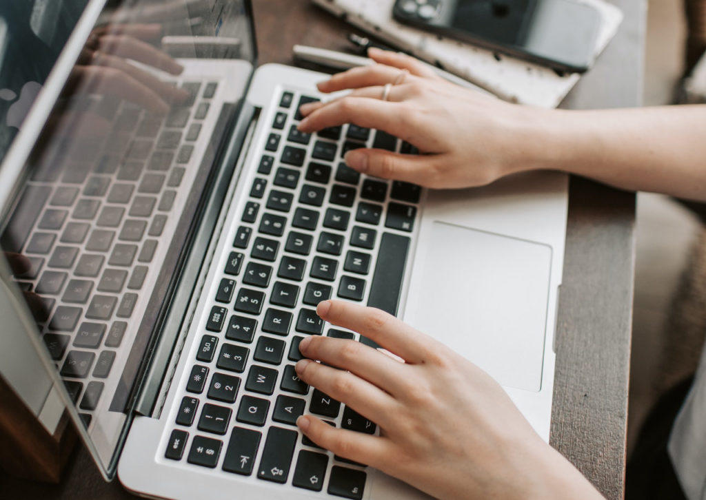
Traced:
<path fill-rule="evenodd" d="M 350 406 L 364 417 L 383 427 L 397 403 L 390 394 L 355 374 L 311 360 L 300 360 L 294 366 L 301 380 Z"/>

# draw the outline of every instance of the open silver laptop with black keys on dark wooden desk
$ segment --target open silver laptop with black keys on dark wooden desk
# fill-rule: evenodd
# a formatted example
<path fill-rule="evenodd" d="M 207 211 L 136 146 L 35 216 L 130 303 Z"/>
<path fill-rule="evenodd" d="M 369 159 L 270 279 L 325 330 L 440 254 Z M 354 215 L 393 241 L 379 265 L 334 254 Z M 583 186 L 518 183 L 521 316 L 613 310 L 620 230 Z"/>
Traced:
<path fill-rule="evenodd" d="M 326 76 L 258 68 L 250 1 L 10 4 L 0 341 L 21 348 L 0 374 L 47 429 L 71 417 L 107 480 L 185 500 L 424 497 L 294 425 L 379 432 L 294 373 L 306 336 L 374 346 L 322 322 L 326 298 L 462 353 L 549 439 L 566 176 L 425 190 L 349 169 L 357 147 L 417 151 L 354 124 L 299 133 Z"/>

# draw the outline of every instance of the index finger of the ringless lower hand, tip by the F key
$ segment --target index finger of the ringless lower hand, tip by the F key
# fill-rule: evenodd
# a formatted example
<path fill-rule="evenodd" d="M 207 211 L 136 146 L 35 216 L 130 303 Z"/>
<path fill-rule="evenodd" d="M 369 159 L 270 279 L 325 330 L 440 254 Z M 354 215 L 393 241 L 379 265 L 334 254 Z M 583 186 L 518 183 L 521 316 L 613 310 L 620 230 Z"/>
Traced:
<path fill-rule="evenodd" d="M 324 300 L 316 307 L 316 314 L 329 323 L 357 331 L 406 362 L 416 364 L 433 357 L 430 347 L 436 341 L 379 309 Z"/>

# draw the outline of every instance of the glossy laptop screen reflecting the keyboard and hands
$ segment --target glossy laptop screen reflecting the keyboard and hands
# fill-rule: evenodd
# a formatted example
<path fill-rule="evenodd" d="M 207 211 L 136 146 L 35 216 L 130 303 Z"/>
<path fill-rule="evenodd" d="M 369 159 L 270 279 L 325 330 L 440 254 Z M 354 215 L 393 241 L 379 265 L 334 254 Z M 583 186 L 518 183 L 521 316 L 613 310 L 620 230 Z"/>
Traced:
<path fill-rule="evenodd" d="M 0 1 L 0 255 L 106 477 L 255 51 L 244 0 Z"/>

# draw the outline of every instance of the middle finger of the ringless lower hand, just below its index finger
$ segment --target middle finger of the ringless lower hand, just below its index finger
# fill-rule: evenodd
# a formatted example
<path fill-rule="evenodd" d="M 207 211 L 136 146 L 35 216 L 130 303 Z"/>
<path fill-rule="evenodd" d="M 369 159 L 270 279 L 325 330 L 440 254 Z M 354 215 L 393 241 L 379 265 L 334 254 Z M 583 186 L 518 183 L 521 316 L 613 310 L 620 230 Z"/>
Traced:
<path fill-rule="evenodd" d="M 348 370 L 393 396 L 408 390 L 404 365 L 364 343 L 310 336 L 299 343 L 299 351 L 310 360 Z"/>

